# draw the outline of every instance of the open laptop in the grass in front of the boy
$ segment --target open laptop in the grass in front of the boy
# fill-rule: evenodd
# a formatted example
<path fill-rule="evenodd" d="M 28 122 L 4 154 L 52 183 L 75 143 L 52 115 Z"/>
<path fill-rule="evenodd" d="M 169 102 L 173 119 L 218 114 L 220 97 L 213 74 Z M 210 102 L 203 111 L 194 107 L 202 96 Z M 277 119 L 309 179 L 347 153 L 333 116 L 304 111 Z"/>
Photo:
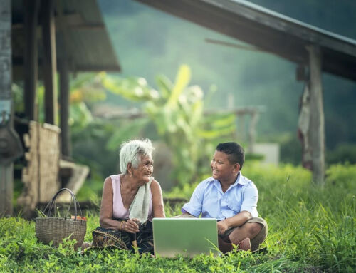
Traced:
<path fill-rule="evenodd" d="M 181 254 L 218 256 L 218 230 L 214 218 L 153 218 L 155 255 L 175 257 Z"/>

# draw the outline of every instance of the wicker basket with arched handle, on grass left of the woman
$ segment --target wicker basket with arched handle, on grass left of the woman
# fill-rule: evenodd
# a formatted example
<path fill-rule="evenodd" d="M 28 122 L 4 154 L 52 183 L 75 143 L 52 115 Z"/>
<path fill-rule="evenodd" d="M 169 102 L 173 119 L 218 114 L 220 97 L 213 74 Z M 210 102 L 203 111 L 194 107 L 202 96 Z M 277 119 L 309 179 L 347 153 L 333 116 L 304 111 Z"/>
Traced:
<path fill-rule="evenodd" d="M 70 217 L 68 217 L 71 202 L 68 208 L 67 217 L 56 217 L 56 198 L 64 190 L 68 190 L 72 196 L 74 203 L 74 219 L 70 219 Z M 77 219 L 77 204 L 80 210 L 79 202 L 71 190 L 67 188 L 58 190 L 56 195 L 53 196 L 52 200 L 48 203 L 45 210 L 43 211 L 46 213 L 46 210 L 49 207 L 47 213 L 48 217 L 36 218 L 36 237 L 38 240 L 44 244 L 49 244 L 49 242 L 53 241 L 53 246 L 58 247 L 64 238 L 70 236 L 70 239 L 77 240 L 77 243 L 74 246 L 75 249 L 80 247 L 83 243 L 85 232 L 87 230 L 87 222 L 85 220 L 81 220 L 79 217 Z M 51 217 L 53 208 L 55 210 L 55 217 Z M 80 215 L 81 214 L 82 211 L 80 210 Z"/>

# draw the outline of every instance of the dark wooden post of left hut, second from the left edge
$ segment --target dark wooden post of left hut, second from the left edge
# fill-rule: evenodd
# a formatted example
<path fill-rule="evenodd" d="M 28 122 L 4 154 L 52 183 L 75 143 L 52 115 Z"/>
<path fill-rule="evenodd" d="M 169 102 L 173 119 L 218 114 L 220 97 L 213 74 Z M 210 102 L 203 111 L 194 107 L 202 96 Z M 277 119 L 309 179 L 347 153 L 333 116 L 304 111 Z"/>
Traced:
<path fill-rule="evenodd" d="M 36 88 L 38 78 L 37 21 L 38 0 L 24 0 L 25 7 L 25 52 L 24 56 L 24 98 L 25 114 L 29 120 L 36 117 Z"/>

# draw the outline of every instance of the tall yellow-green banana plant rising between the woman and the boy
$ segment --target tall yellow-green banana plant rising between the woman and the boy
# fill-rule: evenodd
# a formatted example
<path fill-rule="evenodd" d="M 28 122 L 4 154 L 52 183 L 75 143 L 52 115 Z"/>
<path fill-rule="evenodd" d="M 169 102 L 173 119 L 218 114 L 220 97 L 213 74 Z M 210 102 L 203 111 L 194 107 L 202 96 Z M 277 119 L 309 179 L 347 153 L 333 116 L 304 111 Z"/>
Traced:
<path fill-rule="evenodd" d="M 101 83 L 112 93 L 130 101 L 143 102 L 143 111 L 155 124 L 159 136 L 172 150 L 176 184 L 193 182 L 206 156 L 214 152 L 215 142 L 236 131 L 234 115 L 204 116 L 204 93 L 199 86 L 189 86 L 191 70 L 180 66 L 174 83 L 166 76 L 157 76 L 158 90 L 143 78 L 114 78 L 101 73 Z"/>

